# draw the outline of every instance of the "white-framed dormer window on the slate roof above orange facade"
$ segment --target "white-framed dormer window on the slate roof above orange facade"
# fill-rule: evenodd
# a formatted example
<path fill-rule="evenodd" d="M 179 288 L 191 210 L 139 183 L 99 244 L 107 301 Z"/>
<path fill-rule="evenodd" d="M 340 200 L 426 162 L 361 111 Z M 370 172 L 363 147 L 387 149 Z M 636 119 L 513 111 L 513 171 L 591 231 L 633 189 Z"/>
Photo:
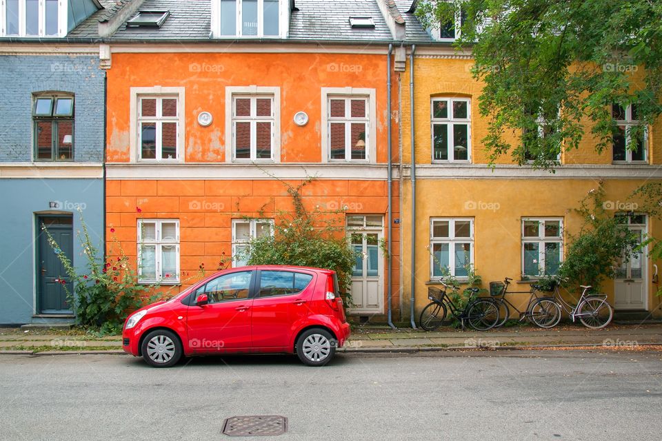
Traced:
<path fill-rule="evenodd" d="M 218 24 L 214 34 L 221 38 L 279 37 L 279 3 L 279 0 L 217 0 Z"/>

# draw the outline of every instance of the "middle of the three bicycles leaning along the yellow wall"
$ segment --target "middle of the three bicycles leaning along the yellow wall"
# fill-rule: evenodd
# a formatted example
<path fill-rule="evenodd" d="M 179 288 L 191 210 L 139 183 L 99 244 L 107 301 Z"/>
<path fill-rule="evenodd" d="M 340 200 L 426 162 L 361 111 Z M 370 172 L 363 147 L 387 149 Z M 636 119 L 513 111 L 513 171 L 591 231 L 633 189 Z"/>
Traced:
<path fill-rule="evenodd" d="M 521 322 L 524 319 L 528 319 L 537 327 L 541 328 L 550 328 L 556 325 L 556 316 L 561 314 L 561 310 L 554 298 L 549 296 L 538 296 L 539 291 L 544 291 L 541 285 L 531 285 L 530 291 L 510 291 L 512 294 L 527 294 L 530 293 L 529 300 L 526 304 L 524 311 L 520 311 L 518 307 L 513 305 L 510 300 L 505 298 L 505 294 L 508 294 L 508 286 L 512 278 L 506 277 L 503 280 L 503 289 L 499 291 L 494 291 L 492 288 L 495 284 L 499 282 L 490 282 L 490 295 L 493 300 L 496 302 L 497 307 L 499 307 L 499 322 L 494 325 L 494 327 L 502 327 L 505 325 L 505 322 L 510 319 L 510 307 L 517 311 L 519 314 L 519 321 Z"/>

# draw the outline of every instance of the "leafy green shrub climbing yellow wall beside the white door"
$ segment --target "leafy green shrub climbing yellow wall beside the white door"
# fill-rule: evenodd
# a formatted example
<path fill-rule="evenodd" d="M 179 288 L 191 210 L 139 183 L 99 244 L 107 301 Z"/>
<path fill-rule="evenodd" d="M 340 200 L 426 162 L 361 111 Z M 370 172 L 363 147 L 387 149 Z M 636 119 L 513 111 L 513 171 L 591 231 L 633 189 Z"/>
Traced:
<path fill-rule="evenodd" d="M 574 211 L 582 216 L 578 234 L 568 235 L 568 252 L 559 276 L 574 285 L 592 285 L 599 291 L 605 278 L 613 278 L 622 259 L 628 260 L 636 249 L 636 237 L 623 223 L 605 209 L 605 192 L 600 185 L 592 189 Z"/>

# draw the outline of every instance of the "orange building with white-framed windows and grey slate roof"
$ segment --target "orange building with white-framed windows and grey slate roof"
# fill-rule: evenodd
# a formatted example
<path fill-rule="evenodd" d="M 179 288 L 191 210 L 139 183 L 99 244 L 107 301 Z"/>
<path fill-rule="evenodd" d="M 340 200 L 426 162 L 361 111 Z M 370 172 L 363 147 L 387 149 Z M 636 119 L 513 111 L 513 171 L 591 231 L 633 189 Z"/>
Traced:
<path fill-rule="evenodd" d="M 109 254 L 119 241 L 142 282 L 188 286 L 200 267 L 241 265 L 247 238 L 292 211 L 287 184 L 312 177 L 304 203 L 344 212 L 363 252 L 352 313 L 399 320 L 399 186 L 389 173 L 398 85 L 389 81 L 390 43 L 404 25 L 389 2 L 340 2 L 336 20 L 338 10 L 314 1 L 260 0 L 252 23 L 248 2 L 220 2 L 243 16 L 214 1 L 152 1 L 163 13 L 137 3 L 101 24 Z"/>

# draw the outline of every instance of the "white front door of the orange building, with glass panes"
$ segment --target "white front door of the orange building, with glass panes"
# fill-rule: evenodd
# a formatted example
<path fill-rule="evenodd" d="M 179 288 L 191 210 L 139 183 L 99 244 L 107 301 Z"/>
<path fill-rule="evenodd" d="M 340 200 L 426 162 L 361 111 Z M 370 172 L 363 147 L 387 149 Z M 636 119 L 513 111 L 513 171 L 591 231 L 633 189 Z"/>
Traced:
<path fill-rule="evenodd" d="M 383 232 L 352 230 L 350 241 L 357 253 L 352 269 L 352 307 L 350 314 L 383 314 L 384 258 L 379 244 Z"/>

